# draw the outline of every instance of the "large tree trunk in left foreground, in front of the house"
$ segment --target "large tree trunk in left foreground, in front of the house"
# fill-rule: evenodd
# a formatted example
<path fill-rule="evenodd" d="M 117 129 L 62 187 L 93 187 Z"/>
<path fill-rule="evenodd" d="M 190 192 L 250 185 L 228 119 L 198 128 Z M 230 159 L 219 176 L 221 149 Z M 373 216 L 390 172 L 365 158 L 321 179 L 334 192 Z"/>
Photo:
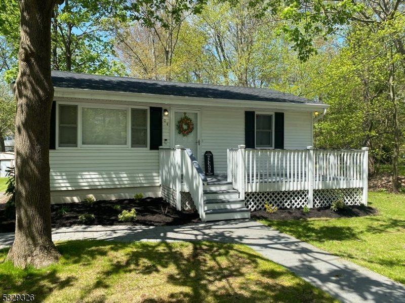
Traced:
<path fill-rule="evenodd" d="M 59 259 L 52 242 L 49 183 L 51 15 L 54 0 L 19 0 L 17 98 L 16 234 L 8 258 L 15 266 L 48 266 Z"/>

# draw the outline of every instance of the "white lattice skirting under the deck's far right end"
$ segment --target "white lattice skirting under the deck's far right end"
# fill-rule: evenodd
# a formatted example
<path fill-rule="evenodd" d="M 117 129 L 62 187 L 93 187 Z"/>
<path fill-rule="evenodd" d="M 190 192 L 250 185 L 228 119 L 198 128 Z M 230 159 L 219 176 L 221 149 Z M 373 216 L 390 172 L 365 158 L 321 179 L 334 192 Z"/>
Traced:
<path fill-rule="evenodd" d="M 329 206 L 332 202 L 343 199 L 347 205 L 363 203 L 362 188 L 318 189 L 313 191 L 313 207 Z"/>

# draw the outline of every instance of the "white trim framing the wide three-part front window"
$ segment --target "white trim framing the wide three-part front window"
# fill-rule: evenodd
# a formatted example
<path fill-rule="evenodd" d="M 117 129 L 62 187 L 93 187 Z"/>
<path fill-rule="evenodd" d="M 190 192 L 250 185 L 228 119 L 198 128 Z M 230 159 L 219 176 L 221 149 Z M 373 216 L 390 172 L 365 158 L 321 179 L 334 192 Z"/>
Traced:
<path fill-rule="evenodd" d="M 77 106 L 77 147 L 59 147 L 59 105 L 76 105 Z M 105 108 L 105 109 L 126 109 L 127 110 L 127 144 L 126 145 L 87 145 L 82 144 L 82 108 Z M 146 126 L 147 126 L 147 137 L 146 147 L 131 147 L 131 109 L 146 109 Z M 109 104 L 94 104 L 94 103 L 83 103 L 83 102 L 71 102 L 71 101 L 56 101 L 56 149 L 60 150 L 78 150 L 78 149 L 134 149 L 134 150 L 149 150 L 149 119 L 150 119 L 150 109 L 149 106 L 134 106 L 134 105 L 109 105 Z"/>

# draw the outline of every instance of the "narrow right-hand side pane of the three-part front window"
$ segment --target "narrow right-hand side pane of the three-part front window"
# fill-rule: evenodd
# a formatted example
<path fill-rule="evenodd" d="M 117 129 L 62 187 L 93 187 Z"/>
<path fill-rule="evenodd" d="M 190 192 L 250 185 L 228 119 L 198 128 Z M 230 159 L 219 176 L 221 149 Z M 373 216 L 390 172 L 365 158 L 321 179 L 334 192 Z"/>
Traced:
<path fill-rule="evenodd" d="M 131 147 L 148 146 L 148 111 L 131 109 Z"/>

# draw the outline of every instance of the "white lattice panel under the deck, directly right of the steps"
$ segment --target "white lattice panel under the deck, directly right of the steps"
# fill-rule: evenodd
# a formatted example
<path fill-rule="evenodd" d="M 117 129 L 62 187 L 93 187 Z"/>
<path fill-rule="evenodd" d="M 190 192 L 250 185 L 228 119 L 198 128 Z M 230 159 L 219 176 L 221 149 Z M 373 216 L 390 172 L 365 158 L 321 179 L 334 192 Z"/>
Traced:
<path fill-rule="evenodd" d="M 308 192 L 279 191 L 279 192 L 247 192 L 245 193 L 245 206 L 250 210 L 262 210 L 268 202 L 277 208 L 297 208 L 307 205 Z"/>

